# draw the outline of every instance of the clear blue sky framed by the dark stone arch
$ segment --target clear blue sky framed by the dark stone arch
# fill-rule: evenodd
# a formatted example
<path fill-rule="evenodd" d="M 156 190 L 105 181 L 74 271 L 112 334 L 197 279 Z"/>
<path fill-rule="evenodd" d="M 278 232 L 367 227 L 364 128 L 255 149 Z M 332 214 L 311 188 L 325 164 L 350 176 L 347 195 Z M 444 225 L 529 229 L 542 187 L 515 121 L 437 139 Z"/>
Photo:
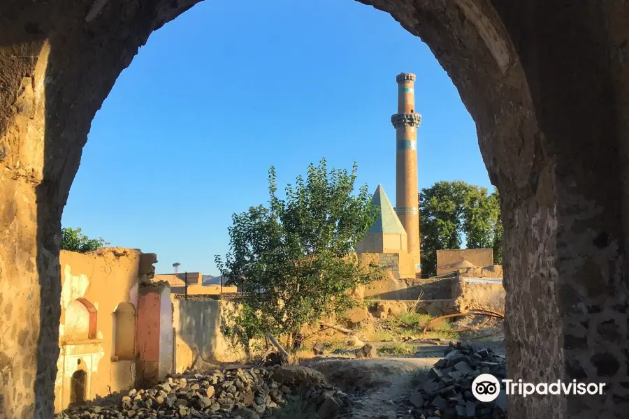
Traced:
<path fill-rule="evenodd" d="M 395 205 L 396 75 L 417 74 L 419 187 L 491 188 L 476 128 L 421 40 L 351 0 L 203 1 L 150 36 L 96 113 L 63 225 L 218 274 L 234 212 L 321 157 Z"/>

